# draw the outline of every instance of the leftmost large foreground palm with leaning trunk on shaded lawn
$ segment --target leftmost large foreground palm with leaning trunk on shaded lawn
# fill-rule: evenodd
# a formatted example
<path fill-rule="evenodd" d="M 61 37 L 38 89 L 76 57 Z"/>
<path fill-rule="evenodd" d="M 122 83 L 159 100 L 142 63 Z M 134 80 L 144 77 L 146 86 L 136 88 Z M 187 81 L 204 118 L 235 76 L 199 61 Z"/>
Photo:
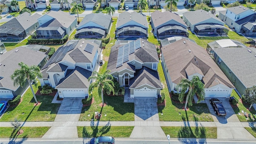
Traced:
<path fill-rule="evenodd" d="M 34 93 L 34 90 L 31 85 L 30 80 L 35 80 L 36 76 L 42 77 L 42 73 L 40 72 L 40 68 L 36 65 L 28 66 L 24 64 L 23 62 L 20 62 L 18 64 L 20 66 L 20 69 L 14 70 L 14 73 L 11 75 L 11 79 L 13 80 L 14 86 L 24 86 L 26 79 L 28 80 L 29 86 L 31 88 L 32 94 L 34 96 L 34 99 L 36 101 L 36 104 L 38 104 L 38 101 L 36 100 L 36 95 Z M 37 83 L 35 83 L 36 85 Z"/>

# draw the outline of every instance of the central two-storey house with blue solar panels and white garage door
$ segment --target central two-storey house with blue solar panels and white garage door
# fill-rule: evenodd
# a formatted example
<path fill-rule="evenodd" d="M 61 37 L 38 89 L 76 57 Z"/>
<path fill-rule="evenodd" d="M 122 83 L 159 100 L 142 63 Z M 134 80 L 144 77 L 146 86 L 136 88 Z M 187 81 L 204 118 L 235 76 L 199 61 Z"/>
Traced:
<path fill-rule="evenodd" d="M 130 98 L 160 95 L 156 46 L 142 38 L 111 48 L 107 70 L 120 86 L 127 86 Z"/>

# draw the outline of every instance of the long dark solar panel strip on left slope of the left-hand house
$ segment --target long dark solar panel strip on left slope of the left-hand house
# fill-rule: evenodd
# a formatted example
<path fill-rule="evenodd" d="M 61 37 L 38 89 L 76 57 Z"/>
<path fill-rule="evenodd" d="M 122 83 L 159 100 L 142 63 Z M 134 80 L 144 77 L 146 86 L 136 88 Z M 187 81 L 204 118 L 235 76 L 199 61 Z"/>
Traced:
<path fill-rule="evenodd" d="M 48 60 L 48 62 L 44 65 L 42 70 L 45 68 L 48 68 L 48 66 L 54 62 L 56 63 L 56 62 L 61 61 L 67 52 L 69 52 L 70 50 L 73 50 L 76 47 L 77 43 L 78 43 L 78 41 L 74 42 L 70 45 L 65 45 L 65 46 L 61 46 L 60 48 L 58 48 L 58 50 L 56 52 L 54 52 L 54 54 L 52 55 L 50 60 Z"/>

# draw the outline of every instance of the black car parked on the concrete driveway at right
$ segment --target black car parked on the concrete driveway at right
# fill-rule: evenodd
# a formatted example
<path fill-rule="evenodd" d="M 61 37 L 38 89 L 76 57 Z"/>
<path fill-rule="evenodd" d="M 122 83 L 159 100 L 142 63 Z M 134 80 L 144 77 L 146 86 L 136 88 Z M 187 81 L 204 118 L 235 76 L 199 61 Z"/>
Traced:
<path fill-rule="evenodd" d="M 218 98 L 211 98 L 210 104 L 212 104 L 212 108 L 214 109 L 214 113 L 218 116 L 226 116 L 226 110 L 224 109 L 222 102 L 218 100 Z"/>

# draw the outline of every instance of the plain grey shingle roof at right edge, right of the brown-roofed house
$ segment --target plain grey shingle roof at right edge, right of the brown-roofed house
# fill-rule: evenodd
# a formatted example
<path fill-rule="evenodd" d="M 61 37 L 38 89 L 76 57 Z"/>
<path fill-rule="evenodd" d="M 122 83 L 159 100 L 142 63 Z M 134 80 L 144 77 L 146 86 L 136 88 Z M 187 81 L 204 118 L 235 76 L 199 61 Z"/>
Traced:
<path fill-rule="evenodd" d="M 254 48 L 217 48 L 214 52 L 246 88 L 256 85 L 256 52 Z M 249 52 L 250 50 L 251 52 Z"/>

